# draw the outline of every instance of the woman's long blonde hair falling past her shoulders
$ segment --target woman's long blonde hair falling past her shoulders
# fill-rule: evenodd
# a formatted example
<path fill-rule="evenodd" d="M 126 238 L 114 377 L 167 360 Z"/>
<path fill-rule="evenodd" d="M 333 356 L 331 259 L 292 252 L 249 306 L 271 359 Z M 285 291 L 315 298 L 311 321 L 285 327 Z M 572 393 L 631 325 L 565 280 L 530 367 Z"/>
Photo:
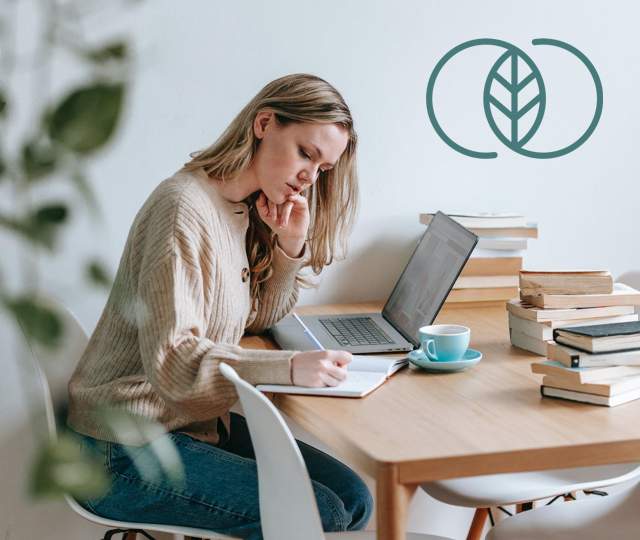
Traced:
<path fill-rule="evenodd" d="M 340 93 L 314 75 L 293 74 L 267 84 L 240 111 L 211 146 L 191 154 L 185 164 L 188 171 L 202 168 L 210 177 L 231 181 L 251 164 L 260 140 L 253 123 L 261 110 L 270 110 L 280 124 L 291 122 L 338 124 L 349 134 L 347 146 L 335 166 L 319 173 L 312 187 L 304 192 L 311 221 L 307 238 L 305 266 L 318 275 L 335 258 L 347 251 L 347 236 L 353 225 L 358 201 L 356 170 L 357 135 L 349 107 Z M 254 308 L 260 300 L 263 284 L 271 277 L 275 234 L 262 221 L 255 207 L 257 193 L 249 204 L 247 257 L 251 270 L 250 294 Z M 339 247 L 339 251 L 338 251 Z M 298 278 L 301 285 L 310 282 Z"/>

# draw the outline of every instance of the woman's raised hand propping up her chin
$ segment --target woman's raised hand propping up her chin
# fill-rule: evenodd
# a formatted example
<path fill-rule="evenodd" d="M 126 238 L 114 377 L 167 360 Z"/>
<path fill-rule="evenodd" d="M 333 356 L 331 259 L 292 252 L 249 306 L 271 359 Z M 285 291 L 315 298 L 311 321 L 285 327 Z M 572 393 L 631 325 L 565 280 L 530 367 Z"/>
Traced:
<path fill-rule="evenodd" d="M 278 235 L 278 244 L 296 258 L 304 246 L 309 229 L 309 205 L 302 195 L 291 195 L 283 204 L 275 204 L 261 192 L 256 201 L 258 215 Z"/>

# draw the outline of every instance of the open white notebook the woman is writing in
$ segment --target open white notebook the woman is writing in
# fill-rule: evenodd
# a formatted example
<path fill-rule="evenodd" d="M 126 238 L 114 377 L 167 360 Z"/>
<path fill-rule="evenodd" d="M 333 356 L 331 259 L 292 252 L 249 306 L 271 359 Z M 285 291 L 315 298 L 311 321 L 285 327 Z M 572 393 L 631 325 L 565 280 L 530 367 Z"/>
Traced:
<path fill-rule="evenodd" d="M 311 396 L 364 397 L 373 392 L 396 371 L 408 364 L 405 357 L 353 355 L 347 366 L 347 378 L 338 386 L 309 388 L 286 384 L 259 384 L 262 392 L 305 394 Z"/>

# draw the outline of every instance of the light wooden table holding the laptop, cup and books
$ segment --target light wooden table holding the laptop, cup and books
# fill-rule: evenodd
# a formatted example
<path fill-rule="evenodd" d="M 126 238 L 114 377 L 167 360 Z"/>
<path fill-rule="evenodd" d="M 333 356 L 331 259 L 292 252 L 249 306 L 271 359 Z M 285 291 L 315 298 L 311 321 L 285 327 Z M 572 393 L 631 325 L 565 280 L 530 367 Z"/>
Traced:
<path fill-rule="evenodd" d="M 405 537 L 407 506 L 421 482 L 640 461 L 640 400 L 609 409 L 542 399 L 529 367 L 540 357 L 511 347 L 503 304 L 445 308 L 437 322 L 469 326 L 483 360 L 454 374 L 405 369 L 363 399 L 276 398 L 283 412 L 376 479 L 379 539 Z M 274 347 L 264 337 L 244 344 Z"/>

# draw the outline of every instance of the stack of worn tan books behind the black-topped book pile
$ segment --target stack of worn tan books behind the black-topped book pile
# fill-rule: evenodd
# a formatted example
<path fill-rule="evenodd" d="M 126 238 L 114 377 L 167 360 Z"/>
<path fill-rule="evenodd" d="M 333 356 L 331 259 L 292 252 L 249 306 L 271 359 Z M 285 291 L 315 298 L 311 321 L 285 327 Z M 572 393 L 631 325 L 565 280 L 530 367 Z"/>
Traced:
<path fill-rule="evenodd" d="M 547 355 L 553 332 L 638 320 L 640 293 L 607 271 L 520 272 L 520 298 L 507 302 L 512 345 Z"/>

